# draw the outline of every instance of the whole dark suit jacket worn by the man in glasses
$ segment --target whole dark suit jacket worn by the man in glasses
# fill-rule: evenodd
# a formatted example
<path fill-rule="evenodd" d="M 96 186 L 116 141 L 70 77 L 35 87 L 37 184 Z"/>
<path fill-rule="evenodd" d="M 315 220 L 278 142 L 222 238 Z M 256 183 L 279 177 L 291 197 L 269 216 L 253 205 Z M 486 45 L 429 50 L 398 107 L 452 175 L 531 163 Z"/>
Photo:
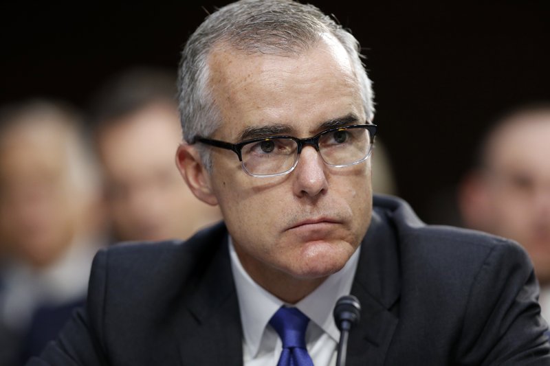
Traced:
<path fill-rule="evenodd" d="M 550 365 L 525 251 L 426 226 L 396 198 L 374 203 L 347 365 Z M 87 308 L 30 365 L 242 365 L 227 238 L 219 224 L 185 243 L 100 251 Z"/>

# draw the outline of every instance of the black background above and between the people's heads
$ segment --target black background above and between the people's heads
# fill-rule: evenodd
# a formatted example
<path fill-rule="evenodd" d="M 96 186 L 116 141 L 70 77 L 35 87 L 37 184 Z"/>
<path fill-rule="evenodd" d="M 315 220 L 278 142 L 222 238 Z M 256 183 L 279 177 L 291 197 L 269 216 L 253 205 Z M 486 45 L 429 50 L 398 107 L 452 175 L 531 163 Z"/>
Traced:
<path fill-rule="evenodd" d="M 0 104 L 41 96 L 85 109 L 128 67 L 175 69 L 188 34 L 228 2 L 3 1 Z M 399 195 L 423 220 L 455 223 L 454 185 L 489 122 L 550 99 L 550 1 L 310 2 L 364 47 Z"/>

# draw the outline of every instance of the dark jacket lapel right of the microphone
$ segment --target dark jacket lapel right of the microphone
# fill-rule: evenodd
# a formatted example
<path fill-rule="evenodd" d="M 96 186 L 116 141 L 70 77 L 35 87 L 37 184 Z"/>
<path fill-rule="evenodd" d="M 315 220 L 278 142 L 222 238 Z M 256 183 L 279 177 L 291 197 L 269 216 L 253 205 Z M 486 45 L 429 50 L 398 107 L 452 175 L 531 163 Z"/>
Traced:
<path fill-rule="evenodd" d="M 361 319 L 350 333 L 347 365 L 383 365 L 399 319 L 399 253 L 390 227 L 373 211 L 351 293 Z"/>

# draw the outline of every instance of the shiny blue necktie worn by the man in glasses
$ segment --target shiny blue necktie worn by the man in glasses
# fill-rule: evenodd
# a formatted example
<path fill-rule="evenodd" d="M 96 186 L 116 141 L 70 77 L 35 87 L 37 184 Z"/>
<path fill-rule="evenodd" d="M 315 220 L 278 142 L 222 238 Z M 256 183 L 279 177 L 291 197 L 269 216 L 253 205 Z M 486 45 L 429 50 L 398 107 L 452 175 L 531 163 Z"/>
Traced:
<path fill-rule="evenodd" d="M 297 308 L 281 306 L 270 319 L 270 325 L 283 341 L 283 352 L 277 366 L 314 366 L 305 347 L 305 330 L 309 318 Z"/>

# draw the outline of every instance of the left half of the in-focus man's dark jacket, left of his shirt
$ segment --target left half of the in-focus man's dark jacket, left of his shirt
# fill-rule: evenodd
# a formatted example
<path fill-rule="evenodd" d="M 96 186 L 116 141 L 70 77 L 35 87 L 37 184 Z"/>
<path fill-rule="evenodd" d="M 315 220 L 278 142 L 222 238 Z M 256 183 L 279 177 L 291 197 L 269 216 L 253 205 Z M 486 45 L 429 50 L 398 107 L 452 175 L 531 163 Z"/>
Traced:
<path fill-rule="evenodd" d="M 221 223 L 186 242 L 123 243 L 98 252 L 87 307 L 33 362 L 241 365 L 226 244 Z"/>

